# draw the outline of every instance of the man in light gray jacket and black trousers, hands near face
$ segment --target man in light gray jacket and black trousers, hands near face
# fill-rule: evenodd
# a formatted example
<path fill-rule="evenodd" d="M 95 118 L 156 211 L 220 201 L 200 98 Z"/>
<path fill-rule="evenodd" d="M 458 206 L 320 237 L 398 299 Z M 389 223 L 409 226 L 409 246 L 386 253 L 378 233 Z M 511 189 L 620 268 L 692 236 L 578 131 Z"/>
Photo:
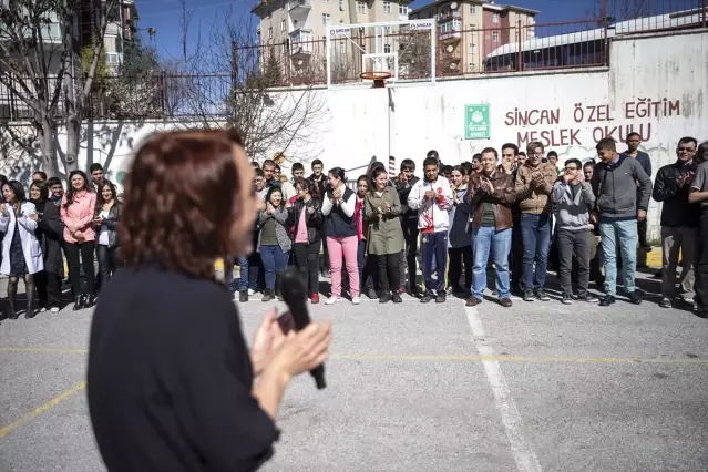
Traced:
<path fill-rule="evenodd" d="M 571 269 L 573 256 L 577 264 L 577 296 L 581 301 L 597 302 L 597 298 L 587 291 L 589 284 L 589 238 L 587 230 L 589 213 L 595 205 L 595 195 L 588 182 L 582 182 L 583 164 L 579 160 L 565 161 L 563 178 L 553 186 L 553 206 L 555 207 L 556 245 L 558 248 L 561 288 L 563 304 L 573 302 Z"/>

